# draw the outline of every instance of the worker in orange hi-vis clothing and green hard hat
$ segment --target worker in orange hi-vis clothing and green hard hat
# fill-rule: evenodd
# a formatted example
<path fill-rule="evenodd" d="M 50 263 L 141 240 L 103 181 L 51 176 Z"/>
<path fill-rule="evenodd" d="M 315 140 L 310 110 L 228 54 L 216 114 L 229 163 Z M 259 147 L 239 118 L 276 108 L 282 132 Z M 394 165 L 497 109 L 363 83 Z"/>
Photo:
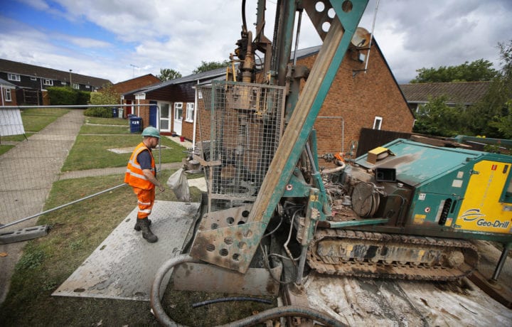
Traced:
<path fill-rule="evenodd" d="M 142 142 L 135 147 L 132 156 L 128 161 L 127 171 L 124 174 L 124 183 L 132 186 L 137 195 L 139 211 L 137 223 L 134 230 L 142 230 L 142 237 L 150 243 L 158 241 L 158 237 L 151 232 L 149 225 L 151 220 L 148 216 L 154 205 L 155 186 L 161 192 L 165 191 L 164 186 L 156 179 L 156 168 L 151 149 L 154 149 L 160 141 L 160 132 L 154 127 L 146 127 L 142 131 Z"/>

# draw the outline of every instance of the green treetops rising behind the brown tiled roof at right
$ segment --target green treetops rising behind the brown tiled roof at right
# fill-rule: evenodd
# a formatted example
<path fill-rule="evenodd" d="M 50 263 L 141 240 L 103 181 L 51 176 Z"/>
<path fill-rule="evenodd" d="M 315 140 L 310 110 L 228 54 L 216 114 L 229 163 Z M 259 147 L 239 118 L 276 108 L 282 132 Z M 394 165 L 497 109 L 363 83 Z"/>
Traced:
<path fill-rule="evenodd" d="M 411 83 L 427 82 L 476 82 L 492 80 L 498 71 L 494 70 L 489 60 L 479 59 L 472 63 L 467 61 L 458 66 L 441 66 L 439 68 L 420 68 Z"/>

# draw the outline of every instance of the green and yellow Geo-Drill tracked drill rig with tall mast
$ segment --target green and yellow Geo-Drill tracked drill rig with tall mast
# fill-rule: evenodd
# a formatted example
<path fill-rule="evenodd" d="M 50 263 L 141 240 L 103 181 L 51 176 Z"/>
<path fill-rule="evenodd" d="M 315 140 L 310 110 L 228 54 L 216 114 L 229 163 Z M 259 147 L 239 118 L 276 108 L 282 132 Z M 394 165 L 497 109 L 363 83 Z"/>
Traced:
<path fill-rule="evenodd" d="M 502 242 L 504 261 L 512 245 L 510 156 L 397 140 L 350 165 L 340 162 L 320 171 L 319 158 L 326 156 L 316 151 L 313 125 L 367 2 L 277 1 L 270 41 L 263 32 L 265 1 L 258 1 L 254 38 L 242 1 L 241 38 L 227 78 L 200 89 L 201 144 L 195 159 L 204 168 L 208 196 L 189 253 L 161 269 L 208 262 L 245 274 L 260 252 L 256 257 L 267 263 L 269 257 L 287 257 L 300 289 L 307 269 L 459 279 L 478 264 L 476 247 L 468 241 L 474 239 Z M 290 63 L 294 20 L 299 12 L 300 22 L 303 11 L 323 41 L 311 71 Z M 257 51 L 264 60 L 257 60 Z M 477 191 L 481 183 L 486 188 Z M 262 246 L 266 238 L 278 244 L 277 252 L 268 250 L 275 245 Z M 154 293 L 157 318 L 169 322 L 158 314 L 159 291 Z"/>

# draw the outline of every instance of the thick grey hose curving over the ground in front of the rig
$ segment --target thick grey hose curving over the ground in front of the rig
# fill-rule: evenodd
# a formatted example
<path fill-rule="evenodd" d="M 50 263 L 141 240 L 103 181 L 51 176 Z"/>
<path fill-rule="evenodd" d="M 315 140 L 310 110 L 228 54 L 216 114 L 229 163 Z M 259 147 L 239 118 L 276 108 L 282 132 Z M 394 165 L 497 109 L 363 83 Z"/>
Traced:
<path fill-rule="evenodd" d="M 160 287 L 161 282 L 164 280 L 164 276 L 167 272 L 177 264 L 182 264 L 186 262 L 201 262 L 198 259 L 194 259 L 188 254 L 180 254 L 174 258 L 171 258 L 164 262 L 161 267 L 156 272 L 156 276 L 151 286 L 151 309 L 153 309 L 154 316 L 159 323 L 163 326 L 183 326 L 176 322 L 174 322 L 167 313 L 164 311 L 164 308 L 161 306 L 160 302 Z M 324 323 L 326 326 L 345 326 L 343 323 L 340 323 L 336 319 L 327 315 L 326 313 L 322 313 L 320 311 L 316 311 L 310 308 L 304 308 L 302 306 L 281 306 L 278 308 L 273 308 L 269 310 L 262 311 L 260 313 L 255 314 L 254 316 L 250 316 L 247 318 L 240 319 L 238 321 L 233 321 L 232 323 L 228 323 L 224 326 L 254 326 L 258 323 L 263 323 L 267 320 L 279 318 L 279 317 L 302 317 L 312 319 L 314 321 L 318 321 L 319 323 Z"/>

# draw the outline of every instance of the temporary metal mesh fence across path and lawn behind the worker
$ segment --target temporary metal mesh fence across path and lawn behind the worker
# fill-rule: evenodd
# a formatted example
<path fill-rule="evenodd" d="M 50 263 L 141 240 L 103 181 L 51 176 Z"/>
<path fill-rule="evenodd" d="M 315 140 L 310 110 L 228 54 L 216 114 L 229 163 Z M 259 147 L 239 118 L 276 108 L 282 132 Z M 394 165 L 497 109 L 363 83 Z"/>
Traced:
<path fill-rule="evenodd" d="M 0 232 L 33 226 L 38 214 L 51 209 L 44 207 L 56 181 L 115 174 L 123 183 L 129 154 L 142 141 L 140 131 L 129 119 L 117 116 L 111 124 L 89 123 L 84 111 L 0 108 L 0 226 L 8 225 Z M 161 151 L 156 148 L 153 153 L 159 168 Z M 79 198 L 70 198 L 75 200 Z M 18 220 L 26 221 L 14 224 Z"/>

